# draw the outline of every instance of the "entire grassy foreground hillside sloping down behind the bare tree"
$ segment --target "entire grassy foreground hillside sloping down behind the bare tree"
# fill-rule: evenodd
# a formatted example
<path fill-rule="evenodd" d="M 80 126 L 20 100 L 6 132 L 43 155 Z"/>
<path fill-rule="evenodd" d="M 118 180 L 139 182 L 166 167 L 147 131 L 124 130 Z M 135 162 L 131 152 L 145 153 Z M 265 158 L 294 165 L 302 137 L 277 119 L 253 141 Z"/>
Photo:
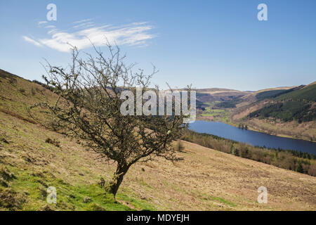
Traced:
<path fill-rule="evenodd" d="M 27 105 L 54 94 L 0 72 L 0 210 L 316 210 L 315 177 L 188 142 L 185 161 L 131 167 L 114 200 L 98 185 L 114 165 L 28 116 Z M 48 186 L 57 205 L 46 203 Z M 257 203 L 259 186 L 268 204 Z"/>

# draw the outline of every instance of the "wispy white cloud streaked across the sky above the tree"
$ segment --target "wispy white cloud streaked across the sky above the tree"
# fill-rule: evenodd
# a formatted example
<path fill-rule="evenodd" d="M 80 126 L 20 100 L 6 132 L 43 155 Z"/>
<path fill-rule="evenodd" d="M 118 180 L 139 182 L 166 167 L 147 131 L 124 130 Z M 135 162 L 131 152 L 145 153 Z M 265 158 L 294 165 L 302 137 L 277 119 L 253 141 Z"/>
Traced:
<path fill-rule="evenodd" d="M 110 44 L 117 45 L 144 45 L 145 41 L 155 37 L 150 34 L 152 26 L 147 23 L 131 23 L 120 27 L 112 25 L 96 26 L 88 20 L 80 20 L 74 22 L 77 29 L 75 32 L 61 31 L 53 26 L 46 26 L 46 28 L 53 28 L 47 32 L 49 37 L 41 39 L 31 39 L 23 36 L 25 41 L 34 44 L 35 46 L 48 46 L 62 52 L 70 51 L 70 45 L 77 46 L 78 49 L 86 49 L 91 46 L 91 42 L 95 46 L 105 46 L 106 40 Z"/>

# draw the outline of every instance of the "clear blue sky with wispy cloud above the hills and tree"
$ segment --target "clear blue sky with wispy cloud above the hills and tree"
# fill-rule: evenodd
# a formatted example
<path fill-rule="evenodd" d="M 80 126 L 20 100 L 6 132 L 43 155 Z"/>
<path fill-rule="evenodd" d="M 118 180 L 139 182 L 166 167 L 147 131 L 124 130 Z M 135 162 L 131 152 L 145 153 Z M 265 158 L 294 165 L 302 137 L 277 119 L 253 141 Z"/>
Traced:
<path fill-rule="evenodd" d="M 47 20 L 48 4 L 56 20 Z M 268 20 L 259 21 L 258 4 Z M 254 91 L 316 80 L 315 0 L 0 1 L 0 68 L 41 80 L 41 63 L 67 66 L 69 44 L 91 52 L 105 37 L 166 88 Z M 90 41 L 89 41 L 90 39 Z M 69 43 L 69 44 L 68 44 Z"/>

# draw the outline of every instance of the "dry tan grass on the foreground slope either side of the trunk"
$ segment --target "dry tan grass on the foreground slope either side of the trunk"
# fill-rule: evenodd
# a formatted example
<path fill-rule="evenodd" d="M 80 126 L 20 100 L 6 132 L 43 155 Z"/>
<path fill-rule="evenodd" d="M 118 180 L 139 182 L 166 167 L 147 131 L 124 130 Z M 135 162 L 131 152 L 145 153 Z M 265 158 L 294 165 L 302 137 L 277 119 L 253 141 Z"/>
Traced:
<path fill-rule="evenodd" d="M 0 113 L 0 160 L 15 171 L 46 171 L 73 186 L 110 180 L 114 165 L 61 134 Z M 60 141 L 57 148 L 45 140 Z M 185 161 L 139 163 L 119 193 L 157 210 L 316 210 L 316 178 L 183 142 Z M 257 188 L 268 188 L 268 204 L 258 204 Z M 13 187 L 17 192 L 25 187 Z M 32 200 L 29 200 L 32 202 Z M 35 203 L 34 203 L 35 204 Z M 133 203 L 126 203 L 133 205 Z"/>

